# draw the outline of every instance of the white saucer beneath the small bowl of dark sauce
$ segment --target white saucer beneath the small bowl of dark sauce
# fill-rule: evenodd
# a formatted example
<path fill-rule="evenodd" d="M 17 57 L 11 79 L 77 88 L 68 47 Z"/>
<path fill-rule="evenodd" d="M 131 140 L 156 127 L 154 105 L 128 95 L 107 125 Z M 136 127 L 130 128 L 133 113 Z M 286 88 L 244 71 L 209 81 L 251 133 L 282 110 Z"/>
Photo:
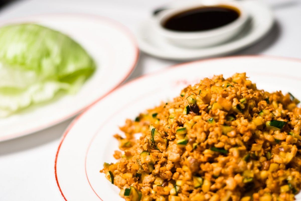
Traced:
<path fill-rule="evenodd" d="M 250 14 L 244 30 L 232 40 L 206 48 L 182 48 L 169 44 L 152 27 L 154 18 L 141 23 L 137 35 L 140 49 L 152 56 L 172 60 L 193 60 L 227 55 L 259 41 L 271 28 L 274 16 L 271 9 L 259 0 L 239 1 Z"/>

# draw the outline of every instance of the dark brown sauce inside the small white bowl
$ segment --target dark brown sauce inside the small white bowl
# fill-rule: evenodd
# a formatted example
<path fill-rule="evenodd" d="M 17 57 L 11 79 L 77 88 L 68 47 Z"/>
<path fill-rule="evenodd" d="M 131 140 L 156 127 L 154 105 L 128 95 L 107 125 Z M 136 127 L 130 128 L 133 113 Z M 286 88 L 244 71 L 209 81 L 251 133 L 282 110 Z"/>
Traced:
<path fill-rule="evenodd" d="M 225 26 L 239 17 L 239 10 L 229 6 L 208 6 L 185 10 L 169 17 L 163 27 L 179 32 L 197 32 Z"/>

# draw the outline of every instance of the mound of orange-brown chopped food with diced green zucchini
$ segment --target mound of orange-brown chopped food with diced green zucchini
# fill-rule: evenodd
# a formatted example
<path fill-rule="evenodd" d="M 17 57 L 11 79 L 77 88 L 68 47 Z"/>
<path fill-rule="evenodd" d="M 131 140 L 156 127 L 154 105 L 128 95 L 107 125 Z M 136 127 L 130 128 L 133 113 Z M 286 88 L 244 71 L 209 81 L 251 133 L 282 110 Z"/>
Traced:
<path fill-rule="evenodd" d="M 246 73 L 188 86 L 115 135 L 101 172 L 131 201 L 294 200 L 301 188 L 301 108 Z M 139 140 L 134 135 L 142 133 Z"/>

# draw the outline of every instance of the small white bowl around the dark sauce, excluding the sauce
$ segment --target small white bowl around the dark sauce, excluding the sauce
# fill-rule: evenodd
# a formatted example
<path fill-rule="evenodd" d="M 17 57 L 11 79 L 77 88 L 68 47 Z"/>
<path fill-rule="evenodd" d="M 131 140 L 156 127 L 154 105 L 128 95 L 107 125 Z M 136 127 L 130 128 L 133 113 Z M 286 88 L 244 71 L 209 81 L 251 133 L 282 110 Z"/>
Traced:
<path fill-rule="evenodd" d="M 209 3 L 208 3 L 209 2 Z M 163 27 L 163 24 L 171 16 L 174 16 L 178 13 L 182 13 L 186 10 L 191 10 L 199 7 L 206 6 L 228 6 L 234 7 L 239 11 L 239 16 L 233 22 L 219 28 L 198 31 L 198 32 L 179 32 L 166 29 Z M 172 8 L 169 10 L 161 11 L 157 19 L 155 20 L 155 29 L 166 38 L 169 42 L 177 46 L 184 46 L 189 48 L 197 47 L 208 47 L 221 44 L 225 41 L 230 40 L 235 35 L 237 35 L 243 28 L 244 24 L 247 22 L 248 13 L 239 3 L 234 1 L 207 1 L 206 4 L 194 3 L 180 8 Z"/>

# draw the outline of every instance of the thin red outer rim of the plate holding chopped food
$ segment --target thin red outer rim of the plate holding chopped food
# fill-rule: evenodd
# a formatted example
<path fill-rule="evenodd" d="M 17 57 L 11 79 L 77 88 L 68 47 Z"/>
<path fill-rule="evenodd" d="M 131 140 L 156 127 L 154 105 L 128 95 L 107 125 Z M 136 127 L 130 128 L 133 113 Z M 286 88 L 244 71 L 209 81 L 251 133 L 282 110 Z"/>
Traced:
<path fill-rule="evenodd" d="M 153 75 L 156 75 L 156 74 L 160 74 L 160 73 L 162 73 L 164 71 L 168 71 L 168 70 L 171 70 L 173 68 L 182 67 L 183 65 L 192 64 L 192 63 L 202 63 L 202 62 L 207 62 L 207 61 L 218 61 L 218 60 L 224 60 L 224 59 L 233 59 L 233 58 L 234 59 L 237 59 L 237 58 L 266 58 L 266 59 L 276 59 L 276 60 L 284 60 L 284 61 L 294 61 L 294 62 L 299 62 L 301 64 L 301 58 L 284 57 L 284 56 L 273 56 L 273 55 L 235 55 L 235 56 L 225 56 L 225 57 L 218 57 L 218 58 L 199 59 L 199 60 L 195 60 L 195 61 L 188 61 L 188 62 L 183 62 L 183 63 L 171 65 L 171 66 L 169 66 L 167 68 L 164 68 L 162 70 L 157 70 L 157 71 L 152 72 L 152 73 L 141 75 L 141 76 L 139 76 L 139 77 L 137 77 L 135 79 L 130 80 L 129 82 L 124 83 L 123 85 L 119 86 L 117 89 L 122 89 L 126 85 L 128 85 L 130 83 L 133 83 L 133 82 L 137 82 L 140 79 L 143 79 L 145 77 L 149 77 L 149 76 L 153 76 Z M 115 91 L 115 90 L 113 90 L 113 91 Z M 113 91 L 110 91 L 110 93 L 108 93 L 107 95 L 110 95 Z M 101 101 L 101 99 L 98 100 L 95 104 L 97 104 L 99 101 Z M 70 130 L 73 128 L 73 126 L 79 121 L 79 119 L 81 119 L 81 117 L 85 113 L 87 113 L 88 110 L 90 110 L 91 107 L 93 107 L 93 105 L 87 107 L 79 116 L 77 116 L 75 119 L 73 119 L 73 121 L 68 125 L 68 127 L 64 131 L 64 133 L 63 133 L 63 135 L 61 137 L 60 143 L 59 143 L 59 145 L 57 147 L 57 151 L 56 151 L 56 155 L 55 155 L 55 161 L 54 161 L 54 175 L 55 175 L 55 180 L 56 180 L 56 183 L 57 183 L 57 187 L 58 187 L 61 195 L 63 196 L 64 200 L 66 200 L 66 201 L 67 201 L 67 199 L 64 196 L 64 193 L 63 193 L 63 191 L 62 191 L 62 189 L 60 187 L 60 184 L 59 184 L 59 181 L 58 181 L 58 177 L 57 177 L 57 158 L 58 158 L 58 154 L 60 152 L 61 146 L 62 146 L 62 144 L 64 142 L 64 139 L 66 138 L 67 134 L 70 132 Z M 91 186 L 90 182 L 89 182 L 89 185 Z M 93 188 L 92 188 L 92 190 L 94 191 Z M 94 191 L 94 193 L 95 193 L 95 191 Z M 98 196 L 98 198 L 103 201 L 103 199 L 101 199 L 99 196 Z"/>

